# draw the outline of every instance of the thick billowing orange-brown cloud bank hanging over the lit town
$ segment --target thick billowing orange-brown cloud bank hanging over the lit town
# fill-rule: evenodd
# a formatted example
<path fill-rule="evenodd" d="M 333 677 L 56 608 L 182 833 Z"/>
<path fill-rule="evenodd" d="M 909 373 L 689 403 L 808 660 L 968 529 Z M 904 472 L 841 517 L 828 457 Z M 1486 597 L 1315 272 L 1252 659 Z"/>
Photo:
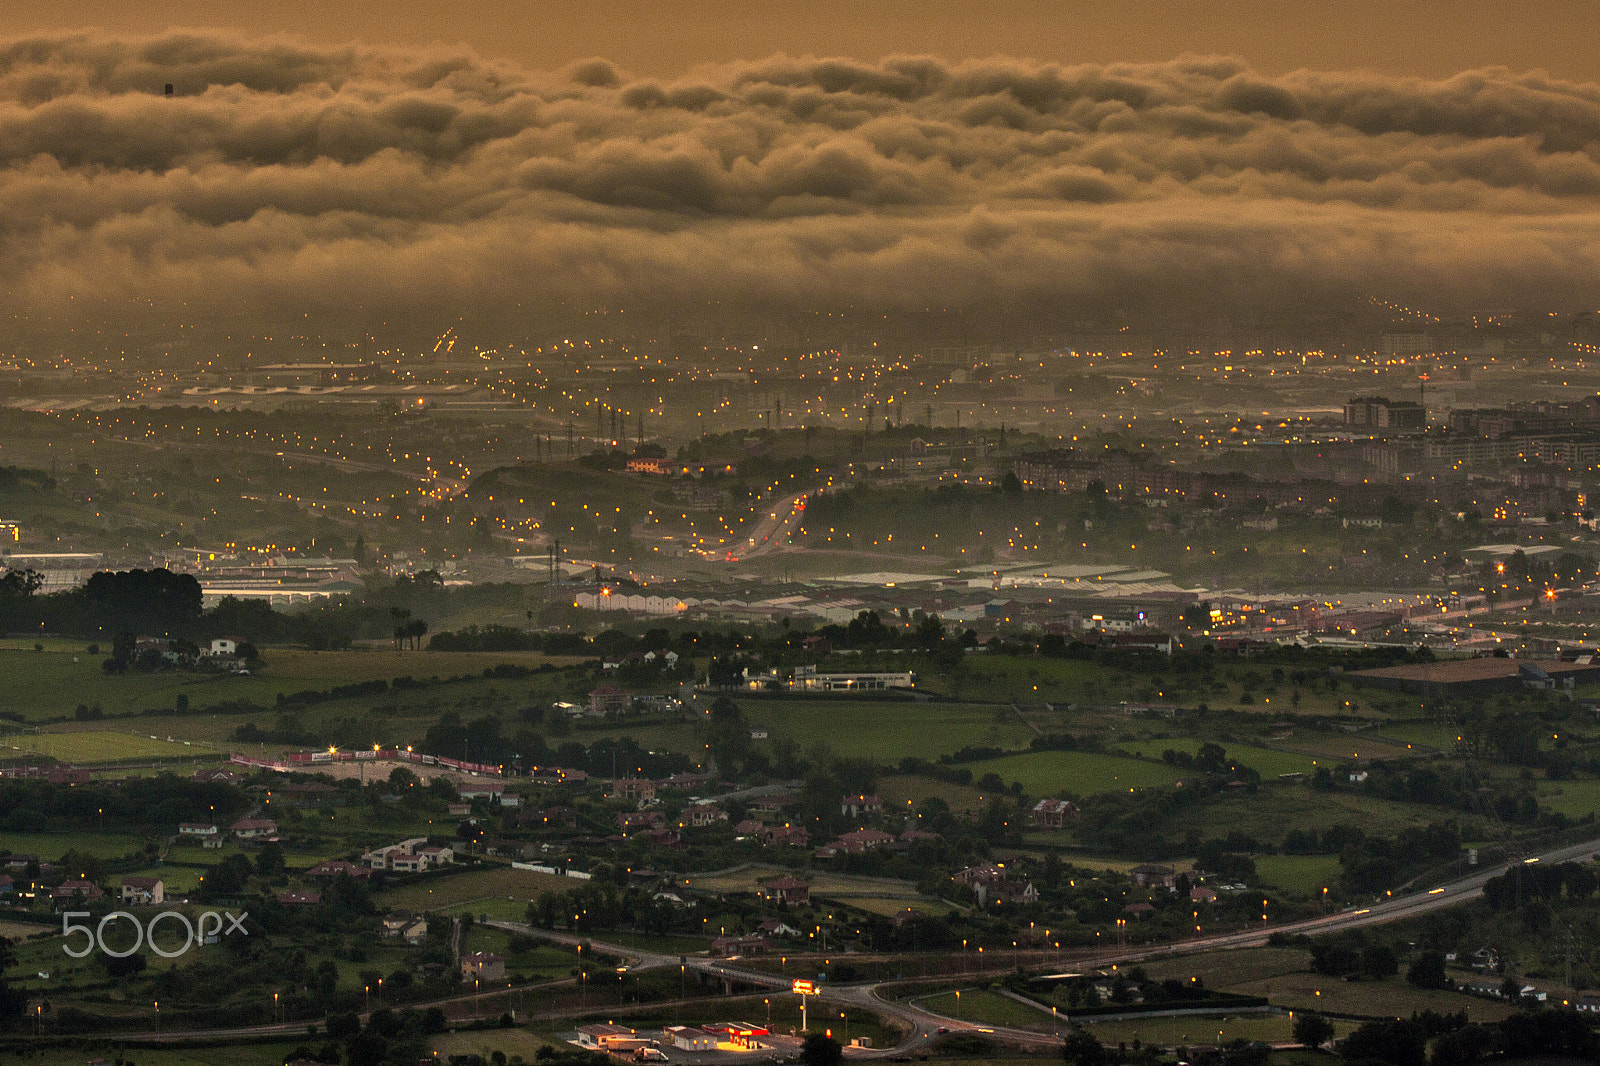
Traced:
<path fill-rule="evenodd" d="M 162 86 L 176 94 L 165 98 Z M 1594 301 L 1600 86 L 0 43 L 0 282 L 293 309 Z"/>

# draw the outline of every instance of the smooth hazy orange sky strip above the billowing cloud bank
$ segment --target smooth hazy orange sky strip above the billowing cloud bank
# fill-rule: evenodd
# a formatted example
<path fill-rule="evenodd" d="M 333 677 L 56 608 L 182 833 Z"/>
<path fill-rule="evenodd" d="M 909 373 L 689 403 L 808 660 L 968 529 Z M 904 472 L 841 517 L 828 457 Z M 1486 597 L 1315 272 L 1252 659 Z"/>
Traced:
<path fill-rule="evenodd" d="M 6 34 L 99 26 L 293 32 L 318 43 L 467 43 L 530 67 L 605 56 L 638 74 L 771 53 L 1011 54 L 1058 62 L 1229 53 L 1278 74 L 1482 66 L 1595 80 L 1594 0 L 0 0 Z"/>

